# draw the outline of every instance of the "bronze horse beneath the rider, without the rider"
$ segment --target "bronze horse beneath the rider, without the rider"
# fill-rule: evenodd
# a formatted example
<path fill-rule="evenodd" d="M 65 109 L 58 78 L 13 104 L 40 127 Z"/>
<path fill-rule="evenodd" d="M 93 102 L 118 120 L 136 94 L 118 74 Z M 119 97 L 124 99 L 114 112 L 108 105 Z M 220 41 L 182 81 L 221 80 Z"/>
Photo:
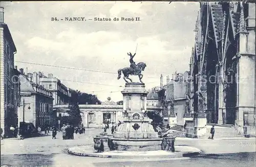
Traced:
<path fill-rule="evenodd" d="M 131 82 L 133 82 L 130 78 L 129 75 L 133 75 L 133 76 L 138 76 L 140 79 L 140 82 L 143 83 L 141 81 L 143 75 L 141 74 L 141 71 L 143 71 L 146 67 L 146 64 L 143 62 L 139 62 L 137 64 L 137 68 L 131 68 L 131 67 L 124 67 L 124 68 L 120 68 L 118 69 L 118 77 L 117 79 L 119 80 L 121 78 L 121 74 L 123 73 L 123 79 L 125 82 L 128 82 L 126 79 L 129 79 Z"/>

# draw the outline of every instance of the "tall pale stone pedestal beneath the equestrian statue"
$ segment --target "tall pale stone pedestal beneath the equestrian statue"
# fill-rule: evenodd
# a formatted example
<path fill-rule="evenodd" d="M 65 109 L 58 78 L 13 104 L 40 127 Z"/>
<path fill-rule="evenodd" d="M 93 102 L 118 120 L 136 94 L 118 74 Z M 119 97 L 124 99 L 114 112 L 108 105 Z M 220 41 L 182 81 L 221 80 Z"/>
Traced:
<path fill-rule="evenodd" d="M 123 117 L 121 125 L 111 138 L 116 150 L 161 150 L 162 138 L 158 138 L 145 114 L 147 91 L 143 83 L 126 83 L 123 94 Z"/>

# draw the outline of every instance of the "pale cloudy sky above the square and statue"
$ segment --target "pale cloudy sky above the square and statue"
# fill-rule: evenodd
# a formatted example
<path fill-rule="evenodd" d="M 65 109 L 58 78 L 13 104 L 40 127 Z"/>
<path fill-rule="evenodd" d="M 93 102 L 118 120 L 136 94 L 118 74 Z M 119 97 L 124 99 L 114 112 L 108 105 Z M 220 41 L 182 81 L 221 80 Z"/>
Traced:
<path fill-rule="evenodd" d="M 96 94 L 101 101 L 122 100 L 125 82 L 122 77 L 117 80 L 117 70 L 130 66 L 127 52 L 136 51 L 134 61 L 146 63 L 142 72 L 146 89 L 160 86 L 161 74 L 166 84 L 167 75 L 189 70 L 199 3 L 1 2 L 1 6 L 17 49 L 18 68 L 25 73 L 51 73 L 67 87 Z M 65 17 L 87 21 L 65 21 Z M 94 17 L 112 21 L 94 21 Z M 113 21 L 115 17 L 140 17 L 140 21 Z M 130 78 L 139 82 L 138 76 Z"/>

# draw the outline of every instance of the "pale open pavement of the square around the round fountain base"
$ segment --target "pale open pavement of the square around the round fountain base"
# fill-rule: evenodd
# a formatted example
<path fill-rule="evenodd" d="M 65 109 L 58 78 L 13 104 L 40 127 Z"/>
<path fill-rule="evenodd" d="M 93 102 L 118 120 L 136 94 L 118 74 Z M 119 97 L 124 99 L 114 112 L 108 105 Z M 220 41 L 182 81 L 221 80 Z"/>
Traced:
<path fill-rule="evenodd" d="M 93 136 L 102 132 L 102 129 L 87 129 L 86 134 L 75 134 L 74 140 L 62 140 L 61 133 L 57 133 L 57 139 L 51 135 L 27 138 L 24 140 L 4 139 L 1 140 L 1 165 L 10 164 L 13 166 L 166 166 L 174 163 L 177 166 L 201 165 L 212 166 L 211 163 L 227 162 L 233 166 L 255 166 L 255 138 L 240 140 L 199 140 L 177 138 L 175 144 L 196 147 L 204 152 L 203 155 L 195 158 L 162 159 L 110 159 L 80 157 L 67 154 L 67 149 L 73 146 L 93 145 Z M 108 131 L 110 132 L 110 130 Z M 235 153 L 235 154 L 230 154 Z M 223 157 L 225 157 L 223 159 Z M 236 159 L 249 159 L 237 162 Z M 254 157 L 254 159 L 253 159 Z M 182 161 L 180 161 L 182 159 Z M 172 160 L 172 162 L 169 162 Z M 198 161 L 200 160 L 200 164 Z M 201 163 L 202 161 L 202 163 Z M 114 163 L 115 162 L 115 163 Z M 182 162 L 182 163 L 181 163 Z M 165 164 L 165 165 L 164 165 Z M 192 165 L 194 164 L 194 165 Z M 247 164 L 247 165 L 246 165 Z M 167 165 L 168 166 L 168 165 Z M 213 165 L 215 167 L 219 165 Z M 220 166 L 223 166 L 222 164 Z M 228 165 L 229 166 L 229 165 Z"/>

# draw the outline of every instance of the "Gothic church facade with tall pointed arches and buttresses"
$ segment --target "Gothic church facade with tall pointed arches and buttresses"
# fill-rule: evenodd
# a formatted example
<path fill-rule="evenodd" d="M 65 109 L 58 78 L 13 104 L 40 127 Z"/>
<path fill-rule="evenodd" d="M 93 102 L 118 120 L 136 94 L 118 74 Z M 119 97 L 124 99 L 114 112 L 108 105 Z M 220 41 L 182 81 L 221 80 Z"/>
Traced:
<path fill-rule="evenodd" d="M 200 3 L 191 56 L 194 116 L 255 126 L 255 3 Z"/>

